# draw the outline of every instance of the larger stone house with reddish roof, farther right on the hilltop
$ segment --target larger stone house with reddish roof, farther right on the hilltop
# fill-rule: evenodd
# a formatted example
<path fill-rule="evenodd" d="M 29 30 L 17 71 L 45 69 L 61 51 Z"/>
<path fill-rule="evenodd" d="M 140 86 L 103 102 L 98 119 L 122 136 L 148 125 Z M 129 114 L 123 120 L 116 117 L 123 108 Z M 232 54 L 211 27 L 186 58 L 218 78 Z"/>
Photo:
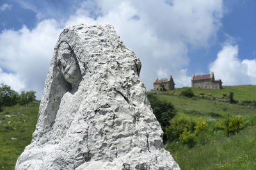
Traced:
<path fill-rule="evenodd" d="M 207 73 L 201 75 L 193 74 L 191 77 L 192 88 L 205 88 L 205 89 L 221 89 L 221 80 L 214 79 L 214 73 Z"/>

